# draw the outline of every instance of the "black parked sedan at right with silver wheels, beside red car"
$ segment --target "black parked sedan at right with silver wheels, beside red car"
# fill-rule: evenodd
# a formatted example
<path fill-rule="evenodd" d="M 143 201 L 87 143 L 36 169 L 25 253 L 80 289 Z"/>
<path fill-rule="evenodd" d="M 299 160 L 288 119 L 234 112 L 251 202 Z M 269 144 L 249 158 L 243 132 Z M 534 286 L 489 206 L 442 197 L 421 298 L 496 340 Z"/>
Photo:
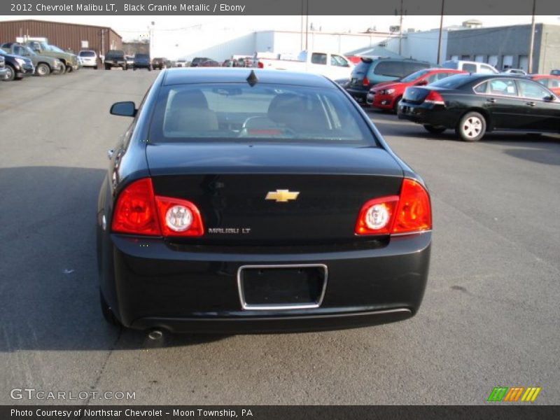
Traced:
<path fill-rule="evenodd" d="M 428 86 L 407 87 L 398 118 L 432 133 L 454 129 L 465 141 L 486 132 L 560 132 L 560 101 L 540 83 L 504 74 L 459 74 Z"/>

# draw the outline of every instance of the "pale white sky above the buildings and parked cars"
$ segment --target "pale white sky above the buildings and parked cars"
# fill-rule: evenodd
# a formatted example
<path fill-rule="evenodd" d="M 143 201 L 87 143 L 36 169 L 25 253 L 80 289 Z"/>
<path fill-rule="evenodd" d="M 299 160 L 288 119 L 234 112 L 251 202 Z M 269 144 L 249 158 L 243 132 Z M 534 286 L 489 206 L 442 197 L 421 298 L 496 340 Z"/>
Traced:
<path fill-rule="evenodd" d="M 246 29 L 258 31 L 262 29 L 299 31 L 302 25 L 301 16 L 34 16 L 13 15 L 0 16 L 0 20 L 37 19 L 57 22 L 80 23 L 83 25 L 109 26 L 123 36 L 124 41 L 141 38 L 148 34 L 148 27 L 154 22 L 154 30 L 172 31 L 202 25 L 204 29 Z M 531 16 L 454 16 L 444 17 L 444 26 L 461 25 L 469 19 L 482 21 L 484 27 L 504 25 L 530 24 Z M 388 31 L 389 26 L 398 25 L 399 18 L 391 16 L 309 16 L 309 25 L 322 31 L 360 32 L 368 27 L 378 31 Z M 560 16 L 536 16 L 536 22 L 560 25 Z M 440 16 L 406 16 L 403 29 L 433 29 L 440 26 Z"/>

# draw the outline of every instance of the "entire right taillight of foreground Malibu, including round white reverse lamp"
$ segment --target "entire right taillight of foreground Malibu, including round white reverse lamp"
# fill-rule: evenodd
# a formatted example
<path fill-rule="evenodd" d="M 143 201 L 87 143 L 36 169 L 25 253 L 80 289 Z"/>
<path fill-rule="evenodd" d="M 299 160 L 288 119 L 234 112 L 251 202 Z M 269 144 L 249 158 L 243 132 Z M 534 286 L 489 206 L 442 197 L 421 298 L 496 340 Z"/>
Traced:
<path fill-rule="evenodd" d="M 380 197 L 360 209 L 356 235 L 394 235 L 422 232 L 432 228 L 430 197 L 420 183 L 403 179 L 400 195 Z"/>

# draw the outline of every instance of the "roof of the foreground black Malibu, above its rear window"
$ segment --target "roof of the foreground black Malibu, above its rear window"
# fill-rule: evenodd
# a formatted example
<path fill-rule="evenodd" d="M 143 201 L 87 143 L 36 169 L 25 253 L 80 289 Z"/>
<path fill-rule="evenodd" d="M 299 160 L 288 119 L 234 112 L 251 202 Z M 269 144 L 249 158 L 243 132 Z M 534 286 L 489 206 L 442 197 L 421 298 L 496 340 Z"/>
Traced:
<path fill-rule="evenodd" d="M 190 83 L 246 83 L 246 79 L 254 71 L 257 83 L 274 83 L 278 85 L 302 85 L 309 87 L 335 87 L 325 76 L 295 71 L 262 70 L 251 68 L 198 68 L 168 69 L 163 85 L 183 85 Z"/>

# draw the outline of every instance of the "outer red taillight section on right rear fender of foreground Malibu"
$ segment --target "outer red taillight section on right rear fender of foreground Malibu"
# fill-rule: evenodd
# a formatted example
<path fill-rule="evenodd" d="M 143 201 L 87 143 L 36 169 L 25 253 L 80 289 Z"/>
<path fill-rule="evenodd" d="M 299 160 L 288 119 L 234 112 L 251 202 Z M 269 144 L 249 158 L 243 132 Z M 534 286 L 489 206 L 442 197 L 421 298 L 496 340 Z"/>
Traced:
<path fill-rule="evenodd" d="M 403 179 L 391 233 L 421 232 L 431 228 L 432 209 L 428 192 L 420 183 Z"/>

